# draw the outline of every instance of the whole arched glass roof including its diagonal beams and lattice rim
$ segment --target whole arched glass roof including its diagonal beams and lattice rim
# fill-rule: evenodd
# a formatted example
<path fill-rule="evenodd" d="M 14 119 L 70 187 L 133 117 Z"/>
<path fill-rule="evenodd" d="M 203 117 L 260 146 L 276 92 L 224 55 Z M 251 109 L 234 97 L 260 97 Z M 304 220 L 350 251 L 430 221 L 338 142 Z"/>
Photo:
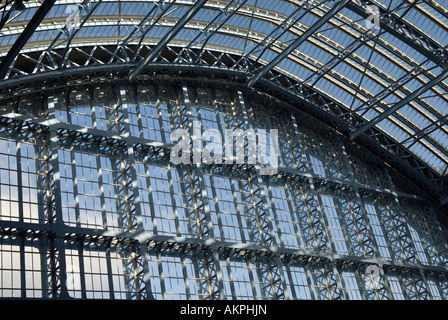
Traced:
<path fill-rule="evenodd" d="M 281 82 L 285 90 L 305 100 L 317 95 L 316 108 L 337 105 L 333 115 L 353 140 L 375 141 L 437 184 L 442 200 L 447 195 L 448 1 L 41 0 L 20 8 L 2 0 L 0 6 L 0 91 L 14 79 L 93 65 L 127 64 L 132 80 L 153 63 L 204 64 L 213 51 L 217 62 L 209 65 L 243 71 L 248 86 L 278 84 L 282 74 L 289 79 Z M 163 58 L 170 48 L 171 58 Z M 218 63 L 219 52 L 229 54 L 225 63 Z M 316 102 L 322 99 L 324 105 Z M 409 153 L 399 154 L 403 149 Z"/>

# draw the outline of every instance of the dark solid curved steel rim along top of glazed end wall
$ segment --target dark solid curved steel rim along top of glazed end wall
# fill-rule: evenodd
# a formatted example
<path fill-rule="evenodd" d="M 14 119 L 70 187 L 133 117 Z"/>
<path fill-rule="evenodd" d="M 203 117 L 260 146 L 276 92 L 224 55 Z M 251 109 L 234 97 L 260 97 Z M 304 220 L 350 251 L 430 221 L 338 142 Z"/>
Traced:
<path fill-rule="evenodd" d="M 180 49 L 180 48 L 179 48 Z M 112 52 L 111 52 L 112 53 Z M 219 53 L 219 51 L 214 52 Z M 213 52 L 210 52 L 210 54 L 213 54 Z M 235 53 L 228 52 L 227 55 L 234 56 L 237 58 Z M 218 55 L 217 55 L 218 56 Z M 202 70 L 206 71 L 210 74 L 216 74 L 217 77 L 219 75 L 226 75 L 228 78 L 228 82 L 232 83 L 235 82 L 237 79 L 239 79 L 240 84 L 244 85 L 245 79 L 246 79 L 246 71 L 242 66 L 235 66 L 235 68 L 224 68 L 223 66 L 218 67 L 216 66 L 219 60 L 223 60 L 223 57 L 216 58 L 216 61 L 214 63 L 210 62 L 208 65 L 204 64 L 189 64 L 189 63 L 169 63 L 169 62 L 154 62 L 147 66 L 147 70 L 151 72 L 151 70 L 164 70 L 158 73 L 162 73 L 166 75 L 171 74 L 173 78 L 176 77 L 178 72 L 186 73 L 192 72 L 194 70 Z M 133 65 L 136 65 L 133 63 Z M 215 65 L 215 67 L 213 67 Z M 116 74 L 117 72 L 121 73 L 122 79 L 126 79 L 125 72 L 128 70 L 129 64 L 128 63 L 121 63 L 121 64 L 103 64 L 103 65 L 97 65 L 97 66 L 84 66 L 84 67 L 72 67 L 62 70 L 54 70 L 54 71 L 46 71 L 42 73 L 37 74 L 31 74 L 24 77 L 17 77 L 17 78 L 11 78 L 4 81 L 4 87 L 2 88 L 3 92 L 7 92 L 6 94 L 0 95 L 0 99 L 9 99 L 9 90 L 14 88 L 16 92 L 19 92 L 18 88 L 23 87 L 24 91 L 21 93 L 23 94 L 30 94 L 30 83 L 33 83 L 36 85 L 36 91 L 35 92 L 42 92 L 42 83 L 45 83 L 46 90 L 52 89 L 52 83 L 53 86 L 58 87 L 64 87 L 64 86 L 70 86 L 74 83 L 79 83 L 79 80 L 83 77 L 85 77 L 88 74 L 92 74 L 93 76 L 97 75 L 100 76 L 99 81 L 103 81 L 104 79 L 107 79 L 109 75 Z M 103 74 L 103 78 L 101 78 L 101 74 Z M 280 74 L 281 75 L 281 74 Z M 70 78 L 70 76 L 74 76 L 73 82 L 67 81 L 67 78 Z M 145 75 L 143 75 L 145 76 Z M 284 77 L 284 75 L 281 75 Z M 277 76 L 277 79 L 279 76 Z M 63 82 L 64 84 L 61 85 L 61 82 L 59 79 L 65 79 Z M 230 80 L 229 80 L 230 79 Z M 85 79 L 86 83 L 90 83 L 93 80 L 93 77 L 88 77 Z M 294 81 L 293 79 L 290 79 L 290 81 Z M 300 103 L 301 107 L 307 112 L 313 114 L 314 116 L 318 115 L 321 120 L 326 122 L 328 125 L 335 127 L 340 132 L 346 132 L 348 134 L 350 123 L 347 122 L 347 120 L 344 120 L 343 112 L 346 113 L 346 116 L 348 115 L 349 118 L 356 117 L 355 114 L 351 114 L 350 110 L 347 110 L 346 108 L 343 108 L 340 106 L 336 101 L 331 100 L 331 98 L 320 94 L 319 92 L 300 92 L 300 91 L 292 91 L 288 88 L 285 88 L 284 86 L 281 86 L 276 81 L 267 81 L 267 80 L 261 80 L 260 84 L 255 87 L 255 89 L 264 88 L 263 90 L 268 90 L 268 92 L 272 92 L 272 89 L 277 91 L 277 94 L 281 95 L 281 99 L 287 99 L 291 100 L 291 105 L 297 104 L 297 102 Z M 294 102 L 295 101 L 295 102 Z M 324 104 L 318 103 L 317 101 L 324 102 Z M 334 107 L 338 107 L 337 111 L 334 109 Z M 336 112 L 335 112 L 336 111 Z M 382 138 L 381 138 L 382 137 Z M 389 137 L 387 137 L 387 134 L 376 131 L 376 138 L 380 138 L 381 140 L 387 140 L 392 142 L 393 140 Z M 412 177 L 414 182 L 416 182 L 420 187 L 422 187 L 425 190 L 431 190 L 432 195 L 441 195 L 442 190 L 441 186 L 438 183 L 437 177 L 430 175 L 430 172 L 428 172 L 422 164 L 420 164 L 420 167 L 417 169 L 414 168 L 415 164 L 418 163 L 418 159 L 415 158 L 415 156 L 412 156 L 412 154 L 409 154 L 406 150 L 406 148 L 403 148 L 399 145 L 389 145 L 388 150 L 385 153 L 385 150 L 383 147 L 379 147 L 379 144 L 377 141 L 370 138 L 370 140 L 366 140 L 367 143 L 364 145 L 367 149 L 372 151 L 373 153 L 376 153 L 377 155 L 383 157 L 386 160 L 394 161 L 392 162 L 392 165 L 396 166 L 397 170 L 401 171 L 402 174 L 408 175 L 409 177 Z M 400 150 L 400 151 L 398 151 Z M 400 153 L 402 155 L 407 154 L 406 157 L 399 157 L 397 154 Z M 387 157 L 385 157 L 385 155 Z M 416 162 L 417 161 L 417 162 Z M 398 164 L 400 164 L 401 168 L 398 168 Z M 429 175 L 428 175 L 429 174 Z"/>

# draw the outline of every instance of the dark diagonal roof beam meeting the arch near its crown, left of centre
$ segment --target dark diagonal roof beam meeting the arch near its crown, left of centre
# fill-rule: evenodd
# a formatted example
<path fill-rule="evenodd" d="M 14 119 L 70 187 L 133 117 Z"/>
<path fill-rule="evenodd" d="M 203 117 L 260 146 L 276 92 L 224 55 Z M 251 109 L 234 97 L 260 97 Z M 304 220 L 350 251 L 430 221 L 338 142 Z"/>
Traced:
<path fill-rule="evenodd" d="M 174 27 L 169 30 L 159 43 L 151 50 L 151 52 L 129 73 L 129 80 L 133 81 L 140 74 L 143 68 L 150 62 L 154 61 L 162 52 L 166 45 L 182 30 L 182 28 L 193 18 L 193 16 L 205 5 L 207 0 L 199 0 L 177 21 Z"/>

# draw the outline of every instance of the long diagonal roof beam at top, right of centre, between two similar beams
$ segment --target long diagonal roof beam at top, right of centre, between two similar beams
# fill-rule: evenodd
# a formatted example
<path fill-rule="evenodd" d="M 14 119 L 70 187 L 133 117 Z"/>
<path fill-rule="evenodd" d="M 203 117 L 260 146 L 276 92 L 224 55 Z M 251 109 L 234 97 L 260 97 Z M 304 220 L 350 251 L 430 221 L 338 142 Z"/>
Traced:
<path fill-rule="evenodd" d="M 266 73 L 272 70 L 280 61 L 293 52 L 298 46 L 311 37 L 320 27 L 322 27 L 328 20 L 330 20 L 336 13 L 338 13 L 349 1 L 341 0 L 328 11 L 319 21 L 313 24 L 307 31 L 305 31 L 299 38 L 297 38 L 289 47 L 287 47 L 282 53 L 275 57 L 267 66 L 265 66 L 260 72 L 252 77 L 247 86 L 252 87 L 258 80 L 260 80 Z"/>

